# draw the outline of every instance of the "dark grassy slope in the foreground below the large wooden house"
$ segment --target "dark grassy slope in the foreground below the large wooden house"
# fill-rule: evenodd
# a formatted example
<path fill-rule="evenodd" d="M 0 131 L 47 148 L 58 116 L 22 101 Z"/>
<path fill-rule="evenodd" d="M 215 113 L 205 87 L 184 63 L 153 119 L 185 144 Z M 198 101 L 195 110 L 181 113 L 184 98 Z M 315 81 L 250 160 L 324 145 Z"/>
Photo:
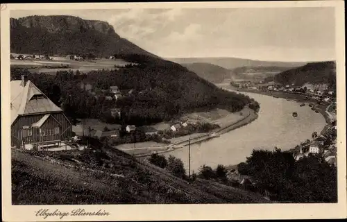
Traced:
<path fill-rule="evenodd" d="M 58 152 L 12 149 L 13 205 L 269 202 L 258 194 L 218 182 L 188 182 L 113 148 Z"/>

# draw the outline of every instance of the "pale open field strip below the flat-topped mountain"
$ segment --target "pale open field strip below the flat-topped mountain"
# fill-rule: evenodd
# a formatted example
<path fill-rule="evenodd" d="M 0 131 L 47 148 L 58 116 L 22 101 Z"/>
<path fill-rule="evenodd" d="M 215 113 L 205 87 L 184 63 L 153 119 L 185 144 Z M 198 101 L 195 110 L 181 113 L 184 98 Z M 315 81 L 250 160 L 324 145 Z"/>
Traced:
<path fill-rule="evenodd" d="M 28 71 L 45 73 L 45 74 L 56 74 L 57 71 L 69 71 L 69 70 L 79 70 L 81 72 L 88 72 L 92 70 L 99 69 L 119 69 L 118 67 L 123 67 L 124 65 L 130 64 L 124 60 L 108 60 L 105 58 L 97 60 L 85 60 L 85 61 L 75 61 L 69 60 L 67 58 L 53 58 L 53 60 L 11 60 L 11 67 L 22 67 L 27 68 Z M 66 67 L 66 66 L 69 67 Z"/>

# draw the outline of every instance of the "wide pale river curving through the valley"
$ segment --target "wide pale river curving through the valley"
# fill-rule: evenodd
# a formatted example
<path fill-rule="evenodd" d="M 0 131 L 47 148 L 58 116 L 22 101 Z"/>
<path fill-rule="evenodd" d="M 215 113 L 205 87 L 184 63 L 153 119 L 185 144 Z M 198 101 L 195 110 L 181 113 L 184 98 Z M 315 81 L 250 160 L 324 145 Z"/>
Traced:
<path fill-rule="evenodd" d="M 321 132 L 325 119 L 320 113 L 311 110 L 306 104 L 287 101 L 262 94 L 242 92 L 260 103 L 259 117 L 246 126 L 201 144 L 191 145 L 191 171 L 206 164 L 212 168 L 217 164 L 233 165 L 244 162 L 253 149 L 273 150 L 275 146 L 282 151 L 312 138 L 314 131 Z M 298 116 L 293 117 L 293 112 Z M 188 146 L 164 154 L 180 158 L 188 169 Z"/>

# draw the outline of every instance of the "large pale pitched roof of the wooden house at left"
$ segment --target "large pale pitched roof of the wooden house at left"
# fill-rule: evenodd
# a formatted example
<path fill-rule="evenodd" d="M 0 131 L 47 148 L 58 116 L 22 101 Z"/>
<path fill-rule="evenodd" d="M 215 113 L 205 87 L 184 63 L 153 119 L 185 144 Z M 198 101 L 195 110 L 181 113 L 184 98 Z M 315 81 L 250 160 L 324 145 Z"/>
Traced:
<path fill-rule="evenodd" d="M 22 80 L 12 80 L 11 84 L 11 124 L 19 115 L 42 112 L 62 112 L 40 89 L 30 80 L 21 85 Z"/>

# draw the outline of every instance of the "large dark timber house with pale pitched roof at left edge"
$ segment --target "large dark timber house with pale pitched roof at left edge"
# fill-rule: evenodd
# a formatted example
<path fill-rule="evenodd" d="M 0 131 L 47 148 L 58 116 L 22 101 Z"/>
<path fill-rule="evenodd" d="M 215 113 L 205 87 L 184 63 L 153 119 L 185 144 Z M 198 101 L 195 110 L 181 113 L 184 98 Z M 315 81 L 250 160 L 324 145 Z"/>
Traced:
<path fill-rule="evenodd" d="M 57 144 L 71 137 L 71 122 L 30 80 L 10 82 L 11 146 Z"/>

